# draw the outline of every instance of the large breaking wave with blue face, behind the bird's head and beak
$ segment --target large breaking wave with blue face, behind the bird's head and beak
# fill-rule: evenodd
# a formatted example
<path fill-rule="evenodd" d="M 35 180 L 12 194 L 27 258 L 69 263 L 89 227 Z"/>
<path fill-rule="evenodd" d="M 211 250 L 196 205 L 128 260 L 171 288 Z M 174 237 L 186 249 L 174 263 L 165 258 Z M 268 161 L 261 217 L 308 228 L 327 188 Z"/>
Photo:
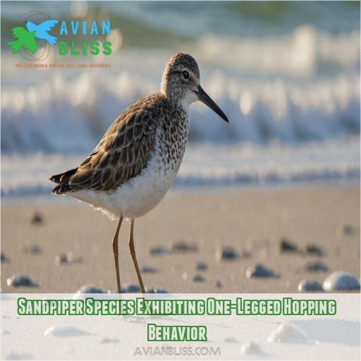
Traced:
<path fill-rule="evenodd" d="M 135 69 L 93 72 L 68 80 L 59 71 L 37 85 L 4 86 L 1 151 L 90 152 L 126 106 L 159 89 L 155 76 L 143 78 Z M 357 72 L 305 82 L 206 73 L 202 85 L 230 124 L 204 104 L 192 104 L 191 141 L 300 142 L 360 133 Z"/>

